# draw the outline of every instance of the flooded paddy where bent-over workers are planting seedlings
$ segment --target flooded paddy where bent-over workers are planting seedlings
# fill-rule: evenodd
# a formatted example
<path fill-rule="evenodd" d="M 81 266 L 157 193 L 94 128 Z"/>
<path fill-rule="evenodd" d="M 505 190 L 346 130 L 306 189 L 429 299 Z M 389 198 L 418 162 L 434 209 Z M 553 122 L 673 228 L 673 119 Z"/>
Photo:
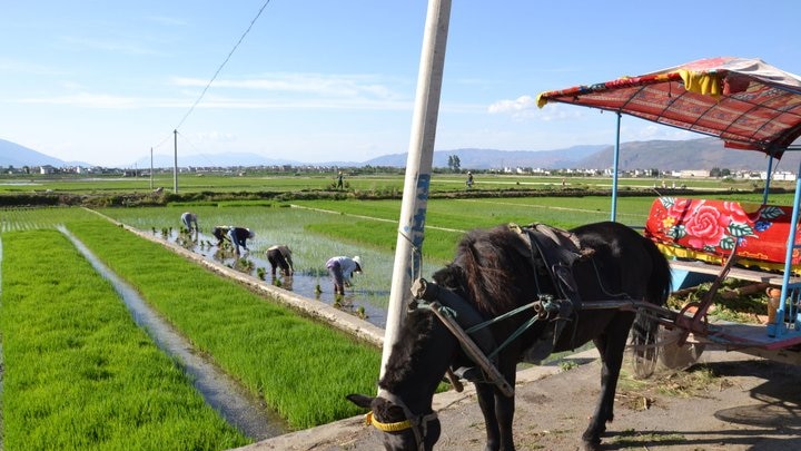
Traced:
<path fill-rule="evenodd" d="M 200 233 L 190 237 L 186 231 L 181 233 L 182 227 L 179 222 L 185 208 L 186 206 L 105 208 L 100 213 L 156 241 L 179 245 L 209 262 L 259 277 L 298 296 L 335 306 L 378 327 L 386 326 L 394 252 L 308 233 L 305 225 L 332 224 L 334 227 L 342 227 L 356 220 L 375 220 L 376 227 L 396 227 L 397 224 L 387 223 L 386 219 L 372 219 L 368 216 L 353 217 L 335 212 L 324 213 L 304 208 L 197 206 L 190 208 L 198 215 Z M 237 256 L 228 242 L 222 246 L 217 245 L 217 238 L 211 235 L 215 225 L 248 227 L 256 233 L 256 237 L 247 241 L 249 251 L 243 251 L 241 255 Z M 288 245 L 291 249 L 294 276 L 285 277 L 280 274 L 275 278 L 270 276 L 266 249 L 276 244 Z M 364 269 L 362 274 L 353 276 L 353 286 L 346 288 L 345 295 L 339 297 L 334 294 L 334 286 L 325 267 L 326 261 L 337 255 L 360 256 Z M 424 261 L 421 275 L 429 277 L 438 267 L 441 265 Z"/>

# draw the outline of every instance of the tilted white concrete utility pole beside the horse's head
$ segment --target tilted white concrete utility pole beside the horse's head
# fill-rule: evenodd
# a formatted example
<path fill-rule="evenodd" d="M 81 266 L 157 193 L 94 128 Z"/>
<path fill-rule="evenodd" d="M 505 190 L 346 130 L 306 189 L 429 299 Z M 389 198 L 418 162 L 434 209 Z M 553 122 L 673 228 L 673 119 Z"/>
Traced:
<path fill-rule="evenodd" d="M 423 229 L 434 159 L 434 138 L 439 112 L 439 92 L 449 19 L 451 0 L 428 1 L 423 51 L 417 73 L 417 97 L 406 160 L 397 246 L 395 247 L 395 266 L 393 267 L 389 307 L 384 334 L 382 376 L 406 315 L 405 301 L 412 297 L 409 287 L 413 277 L 419 274 L 421 268 L 419 252 L 423 247 Z"/>

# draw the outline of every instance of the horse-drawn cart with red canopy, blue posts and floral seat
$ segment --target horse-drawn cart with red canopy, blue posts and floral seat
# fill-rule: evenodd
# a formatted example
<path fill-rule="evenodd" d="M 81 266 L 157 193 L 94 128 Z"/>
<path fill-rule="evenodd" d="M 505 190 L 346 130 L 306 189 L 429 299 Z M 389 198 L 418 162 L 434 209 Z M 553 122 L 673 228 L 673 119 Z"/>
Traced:
<path fill-rule="evenodd" d="M 710 58 L 639 77 L 545 91 L 537 96 L 540 108 L 550 102 L 597 108 L 617 115 L 612 220 L 616 217 L 620 125 L 623 115 L 718 137 L 723 140 L 724 147 L 733 149 L 732 151 L 765 154 L 768 177 L 761 207 L 770 209 L 770 214 L 777 213 L 773 208 L 780 208 L 770 206 L 768 202 L 773 165 L 784 153 L 801 150 L 801 146 L 793 146 L 801 136 L 801 77 L 759 59 Z M 801 175 L 801 165 L 797 174 Z M 750 231 L 734 227 L 729 231 L 730 239 L 721 239 L 714 243 L 714 246 L 704 245 L 701 248 L 683 246 L 683 236 L 679 236 L 682 231 L 671 228 L 673 225 L 669 222 L 663 224 L 661 231 L 656 227 L 656 232 L 652 231 L 651 234 L 646 227 L 645 235 L 654 239 L 671 258 L 676 282 L 674 290 L 703 277 L 713 281 L 713 285 L 701 302 L 688 305 L 679 312 L 645 303 L 636 303 L 633 307 L 657 317 L 666 330 L 675 331 L 676 349 L 694 353 L 695 357 L 705 344 L 712 343 L 730 351 L 793 364 L 801 363 L 801 234 L 798 233 L 800 205 L 801 178 L 797 177 L 793 205 L 782 210 L 784 216 L 789 216 L 787 227 L 771 239 L 771 258 L 761 258 L 760 253 L 753 252 L 753 243 L 748 242 L 748 238 L 756 233 L 758 227 L 754 226 Z M 753 219 L 756 224 L 760 217 L 754 216 Z M 660 234 L 672 242 L 660 242 Z M 750 244 L 751 248 L 748 248 Z M 682 255 L 676 255 L 678 253 Z M 741 259 L 748 261 L 751 267 L 740 267 L 738 262 Z M 775 318 L 767 326 L 710 324 L 706 313 L 712 303 L 712 294 L 726 277 L 744 278 L 780 288 Z M 603 303 L 583 305 L 583 308 L 609 307 L 611 306 Z"/>

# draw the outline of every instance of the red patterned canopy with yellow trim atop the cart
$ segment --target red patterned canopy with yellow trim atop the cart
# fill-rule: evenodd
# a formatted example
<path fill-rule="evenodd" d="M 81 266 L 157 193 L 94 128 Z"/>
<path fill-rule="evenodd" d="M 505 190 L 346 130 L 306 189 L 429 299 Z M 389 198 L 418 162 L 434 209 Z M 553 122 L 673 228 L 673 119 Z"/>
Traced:
<path fill-rule="evenodd" d="M 702 59 L 537 96 L 540 108 L 550 101 L 627 114 L 775 157 L 801 136 L 801 77 L 760 59 Z"/>

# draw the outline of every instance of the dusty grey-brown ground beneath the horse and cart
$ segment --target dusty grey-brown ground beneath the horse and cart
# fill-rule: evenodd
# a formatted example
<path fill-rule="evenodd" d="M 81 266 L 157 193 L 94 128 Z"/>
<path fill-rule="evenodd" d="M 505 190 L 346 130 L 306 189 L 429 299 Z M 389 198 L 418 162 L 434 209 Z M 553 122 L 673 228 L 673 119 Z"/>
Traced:
<path fill-rule="evenodd" d="M 592 354 L 585 354 L 586 359 Z M 701 365 L 647 384 L 623 378 L 605 450 L 702 451 L 801 449 L 801 366 L 723 351 Z M 532 369 L 516 388 L 518 450 L 580 450 L 599 392 L 595 360 L 567 372 Z M 482 450 L 484 424 L 471 393 L 443 393 L 439 451 Z M 241 450 L 380 450 L 360 418 L 281 435 Z"/>

